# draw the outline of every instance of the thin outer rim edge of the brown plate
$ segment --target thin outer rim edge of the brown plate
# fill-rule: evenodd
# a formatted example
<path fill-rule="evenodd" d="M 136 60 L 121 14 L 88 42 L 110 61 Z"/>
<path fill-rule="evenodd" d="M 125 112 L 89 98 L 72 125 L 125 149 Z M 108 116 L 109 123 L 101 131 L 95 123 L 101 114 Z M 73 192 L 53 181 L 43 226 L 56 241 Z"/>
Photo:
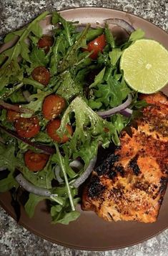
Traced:
<path fill-rule="evenodd" d="M 130 16 L 133 16 L 135 19 L 139 19 L 139 20 L 143 20 L 145 22 L 147 22 L 148 24 L 152 24 L 152 26 L 154 26 L 156 29 L 159 29 L 160 31 L 162 31 L 162 33 L 165 34 L 165 36 L 167 36 L 168 38 L 168 32 L 165 31 L 164 29 L 162 29 L 160 26 L 157 26 L 156 24 L 152 23 L 152 21 L 149 21 L 148 19 L 144 19 L 142 16 L 138 16 L 137 14 L 133 14 L 129 11 L 122 11 L 122 10 L 119 10 L 119 9 L 113 9 L 113 8 L 107 8 L 107 7 L 99 7 L 99 6 L 81 6 L 81 7 L 71 7 L 71 8 L 67 8 L 67 9 L 62 9 L 62 10 L 59 10 L 59 14 L 62 14 L 62 13 L 65 13 L 65 12 L 69 12 L 69 11 L 74 11 L 76 9 L 85 9 L 85 10 L 88 10 L 88 9 L 99 9 L 99 11 L 104 11 L 104 10 L 107 10 L 107 11 L 116 11 L 117 13 L 119 14 L 129 14 Z M 27 22 L 26 24 L 29 24 L 29 22 Z M 26 26 L 26 24 L 24 26 Z M 3 44 L 2 44 L 3 45 Z M 8 192 L 7 192 L 8 193 Z M 4 194 L 4 193 L 0 193 L 0 194 Z M 16 221 L 16 217 L 14 216 L 14 212 L 12 212 L 11 210 L 7 210 L 7 207 L 6 205 L 4 205 L 3 202 L 1 202 L 0 200 L 0 205 L 1 207 L 5 210 L 5 212 L 7 214 L 9 214 L 15 221 Z M 164 230 L 167 230 L 168 229 L 168 225 L 167 227 L 163 227 L 161 230 L 159 230 L 158 232 L 154 232 L 152 235 L 149 235 L 148 237 L 144 237 L 144 239 L 140 239 L 140 240 L 137 240 L 137 242 L 132 242 L 132 243 L 129 243 L 129 245 L 126 243 L 125 245 L 123 244 L 122 246 L 119 245 L 119 246 L 114 246 L 114 247 L 86 247 L 86 246 L 77 246 L 77 245 L 71 245 L 71 243 L 64 243 L 64 242 L 58 242 L 56 240 L 53 240 L 51 237 L 48 237 L 48 236 L 45 236 L 45 235 L 39 235 L 39 232 L 37 232 L 36 230 L 34 230 L 32 227 L 30 228 L 29 225 L 26 225 L 26 223 L 19 221 L 18 225 L 21 225 L 21 227 L 24 227 L 26 228 L 26 230 L 29 230 L 29 232 L 32 232 L 34 235 L 37 235 L 38 237 L 41 237 L 42 239 L 44 240 L 47 240 L 49 242 L 53 242 L 53 243 L 56 243 L 57 245 L 61 245 L 61 246 L 64 246 L 64 247 L 68 247 L 68 248 L 72 248 L 74 250 L 88 250 L 88 251 L 104 251 L 104 250 L 118 250 L 118 249 L 122 249 L 122 248 L 125 248 L 125 247 L 132 247 L 133 245 L 138 245 L 142 242 L 145 242 L 149 239 L 151 239 L 152 237 L 155 237 L 157 235 L 159 235 L 160 233 L 164 232 Z"/>

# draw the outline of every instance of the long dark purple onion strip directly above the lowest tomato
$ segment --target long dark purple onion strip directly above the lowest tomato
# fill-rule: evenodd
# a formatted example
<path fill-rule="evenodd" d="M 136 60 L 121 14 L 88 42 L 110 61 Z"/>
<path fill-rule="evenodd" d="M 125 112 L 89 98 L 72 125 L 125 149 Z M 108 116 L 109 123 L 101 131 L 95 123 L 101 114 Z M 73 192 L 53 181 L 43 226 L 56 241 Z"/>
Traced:
<path fill-rule="evenodd" d="M 46 146 L 44 144 L 38 144 L 38 143 L 31 142 L 29 139 L 19 136 L 19 134 L 17 134 L 16 132 L 11 131 L 10 129 L 7 129 L 6 127 L 3 127 L 1 124 L 0 124 L 0 129 L 2 129 L 4 132 L 9 134 L 11 137 L 19 139 L 26 144 L 29 144 L 31 147 L 34 147 L 36 149 L 41 149 L 46 154 L 54 154 L 55 153 L 55 149 L 53 149 L 52 147 Z"/>

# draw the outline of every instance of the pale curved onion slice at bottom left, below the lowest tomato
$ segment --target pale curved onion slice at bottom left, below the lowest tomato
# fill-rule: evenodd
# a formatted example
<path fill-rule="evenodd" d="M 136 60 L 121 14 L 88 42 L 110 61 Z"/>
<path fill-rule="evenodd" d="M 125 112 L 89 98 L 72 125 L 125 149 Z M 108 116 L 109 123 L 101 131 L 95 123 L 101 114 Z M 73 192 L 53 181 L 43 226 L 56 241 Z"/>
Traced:
<path fill-rule="evenodd" d="M 19 185 L 21 187 L 23 187 L 27 192 L 30 192 L 34 195 L 39 195 L 41 197 L 50 197 L 51 199 L 55 200 L 56 202 L 58 202 L 60 205 L 63 205 L 62 200 L 60 200 L 59 198 L 56 199 L 56 197 L 58 197 L 57 194 L 52 194 L 49 189 L 44 189 L 43 187 L 36 187 L 34 186 L 34 184 L 31 184 L 30 182 L 28 182 L 23 175 L 20 173 L 19 175 L 17 175 L 15 177 L 16 182 L 19 183 Z"/>

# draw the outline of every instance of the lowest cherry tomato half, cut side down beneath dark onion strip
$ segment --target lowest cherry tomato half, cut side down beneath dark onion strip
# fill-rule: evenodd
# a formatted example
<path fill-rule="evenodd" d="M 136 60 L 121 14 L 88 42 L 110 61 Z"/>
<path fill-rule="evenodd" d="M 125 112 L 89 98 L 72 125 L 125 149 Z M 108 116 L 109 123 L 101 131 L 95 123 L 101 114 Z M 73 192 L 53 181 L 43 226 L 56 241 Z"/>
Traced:
<path fill-rule="evenodd" d="M 28 150 L 24 154 L 24 162 L 26 167 L 32 172 L 41 171 L 46 165 L 46 162 L 49 160 L 49 155 L 44 153 L 36 153 L 31 150 Z"/>

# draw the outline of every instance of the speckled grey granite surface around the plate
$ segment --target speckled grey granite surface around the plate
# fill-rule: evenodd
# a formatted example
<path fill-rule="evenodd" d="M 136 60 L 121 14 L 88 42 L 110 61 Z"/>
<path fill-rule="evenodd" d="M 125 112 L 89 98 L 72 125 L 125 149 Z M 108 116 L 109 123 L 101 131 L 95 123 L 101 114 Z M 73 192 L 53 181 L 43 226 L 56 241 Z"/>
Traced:
<path fill-rule="evenodd" d="M 168 1 L 160 0 L 0 0 L 0 35 L 23 26 L 44 10 L 78 6 L 101 6 L 129 11 L 152 21 L 168 31 Z M 98 256 L 166 256 L 168 230 L 139 245 L 107 252 L 71 250 L 37 237 L 9 217 L 0 207 L 0 255 L 98 255 Z"/>

